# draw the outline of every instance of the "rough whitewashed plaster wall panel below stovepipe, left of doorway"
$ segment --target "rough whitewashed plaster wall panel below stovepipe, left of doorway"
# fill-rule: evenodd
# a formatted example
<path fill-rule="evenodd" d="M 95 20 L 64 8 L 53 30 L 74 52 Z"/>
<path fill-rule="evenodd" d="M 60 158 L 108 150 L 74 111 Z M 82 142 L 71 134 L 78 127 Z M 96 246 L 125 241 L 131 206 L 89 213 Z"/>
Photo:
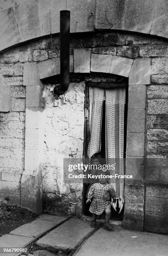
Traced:
<path fill-rule="evenodd" d="M 45 86 L 43 208 L 62 215 L 81 213 L 83 184 L 63 184 L 63 158 L 82 158 L 84 82 L 70 83 L 58 99 Z"/>

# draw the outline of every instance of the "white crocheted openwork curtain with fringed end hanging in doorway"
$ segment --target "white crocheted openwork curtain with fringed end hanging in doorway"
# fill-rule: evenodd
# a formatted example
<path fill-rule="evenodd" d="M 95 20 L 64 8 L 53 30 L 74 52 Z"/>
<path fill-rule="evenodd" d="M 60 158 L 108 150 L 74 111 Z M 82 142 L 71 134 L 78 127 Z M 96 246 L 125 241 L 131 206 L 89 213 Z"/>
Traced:
<path fill-rule="evenodd" d="M 105 100 L 105 155 L 106 164 L 115 164 L 110 174 L 124 175 L 123 145 L 124 145 L 124 109 L 125 88 L 101 89 L 89 87 L 89 128 L 90 141 L 88 144 L 88 157 L 101 150 L 101 125 L 103 113 L 103 100 Z M 113 178 L 110 183 L 116 192 L 119 213 L 124 203 L 124 179 Z M 117 202 L 112 204 L 116 210 Z"/>

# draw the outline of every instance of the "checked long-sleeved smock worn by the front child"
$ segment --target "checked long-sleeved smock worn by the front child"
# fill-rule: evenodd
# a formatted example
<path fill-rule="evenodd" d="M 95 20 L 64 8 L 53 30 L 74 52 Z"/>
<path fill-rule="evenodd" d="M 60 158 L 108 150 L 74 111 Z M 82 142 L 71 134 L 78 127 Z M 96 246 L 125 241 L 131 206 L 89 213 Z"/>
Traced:
<path fill-rule="evenodd" d="M 110 196 L 115 199 L 115 190 L 112 184 L 93 184 L 88 192 L 88 198 L 93 199 L 89 211 L 101 215 L 106 208 L 111 207 Z"/>

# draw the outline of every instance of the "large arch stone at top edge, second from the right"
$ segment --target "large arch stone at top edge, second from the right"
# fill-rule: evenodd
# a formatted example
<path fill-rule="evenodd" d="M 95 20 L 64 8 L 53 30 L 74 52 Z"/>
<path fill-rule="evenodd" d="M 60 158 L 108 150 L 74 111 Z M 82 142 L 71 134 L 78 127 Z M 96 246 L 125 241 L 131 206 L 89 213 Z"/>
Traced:
<path fill-rule="evenodd" d="M 125 3 L 122 29 L 149 34 L 154 15 L 153 0 L 129 0 Z"/>

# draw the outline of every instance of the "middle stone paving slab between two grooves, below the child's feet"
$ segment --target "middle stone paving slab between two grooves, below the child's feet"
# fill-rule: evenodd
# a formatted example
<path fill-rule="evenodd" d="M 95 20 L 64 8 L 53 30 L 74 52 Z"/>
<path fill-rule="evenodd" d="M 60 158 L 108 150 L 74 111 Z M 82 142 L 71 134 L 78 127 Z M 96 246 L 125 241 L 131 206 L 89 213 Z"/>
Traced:
<path fill-rule="evenodd" d="M 72 218 L 40 238 L 37 245 L 45 248 L 73 250 L 93 230 L 90 228 L 90 221 Z"/>

